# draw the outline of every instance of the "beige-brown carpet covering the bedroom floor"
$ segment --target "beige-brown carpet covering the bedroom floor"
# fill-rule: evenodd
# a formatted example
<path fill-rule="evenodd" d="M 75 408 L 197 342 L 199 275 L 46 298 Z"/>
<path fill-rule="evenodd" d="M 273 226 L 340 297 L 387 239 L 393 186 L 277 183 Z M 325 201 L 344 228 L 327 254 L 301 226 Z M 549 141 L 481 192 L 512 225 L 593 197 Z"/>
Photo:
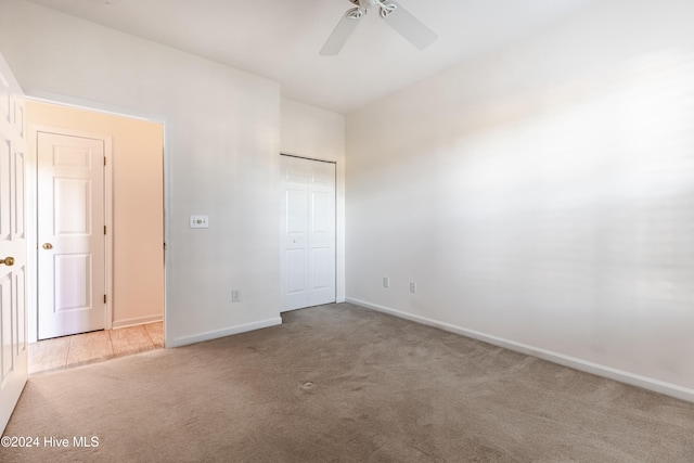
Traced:
<path fill-rule="evenodd" d="M 694 404 L 342 304 L 34 376 L 5 435 L 41 445 L 2 462 L 692 462 Z"/>

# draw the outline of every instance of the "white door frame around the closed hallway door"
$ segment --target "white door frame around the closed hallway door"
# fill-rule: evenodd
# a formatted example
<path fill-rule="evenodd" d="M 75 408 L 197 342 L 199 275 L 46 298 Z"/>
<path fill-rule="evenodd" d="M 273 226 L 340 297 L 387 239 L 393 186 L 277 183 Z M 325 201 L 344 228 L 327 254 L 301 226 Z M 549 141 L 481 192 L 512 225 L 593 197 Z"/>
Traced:
<path fill-rule="evenodd" d="M 86 110 L 90 111 L 90 110 Z M 27 295 L 27 304 L 29 308 L 29 335 L 28 342 L 36 343 L 38 340 L 38 323 L 39 323 L 39 294 L 38 294 L 38 134 L 57 133 L 68 137 L 90 138 L 102 140 L 104 142 L 104 156 L 106 165 L 104 166 L 104 224 L 106 226 L 106 234 L 104 235 L 104 292 L 106 294 L 104 329 L 111 330 L 113 326 L 113 138 L 110 134 L 94 133 L 85 130 L 64 129 L 53 126 L 31 125 L 28 133 L 28 157 L 27 157 L 27 243 L 28 255 L 27 260 L 34 263 L 34 269 L 27 274 L 27 286 L 34 288 Z M 36 243 L 36 246 L 33 245 Z"/>

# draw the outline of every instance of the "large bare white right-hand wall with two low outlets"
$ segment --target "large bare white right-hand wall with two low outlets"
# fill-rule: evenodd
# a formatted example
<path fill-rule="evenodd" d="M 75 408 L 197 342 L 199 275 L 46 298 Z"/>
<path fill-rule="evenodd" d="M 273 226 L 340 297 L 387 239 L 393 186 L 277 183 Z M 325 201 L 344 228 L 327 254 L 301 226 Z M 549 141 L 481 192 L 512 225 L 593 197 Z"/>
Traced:
<path fill-rule="evenodd" d="M 599 2 L 348 115 L 348 299 L 694 400 L 693 17 Z"/>

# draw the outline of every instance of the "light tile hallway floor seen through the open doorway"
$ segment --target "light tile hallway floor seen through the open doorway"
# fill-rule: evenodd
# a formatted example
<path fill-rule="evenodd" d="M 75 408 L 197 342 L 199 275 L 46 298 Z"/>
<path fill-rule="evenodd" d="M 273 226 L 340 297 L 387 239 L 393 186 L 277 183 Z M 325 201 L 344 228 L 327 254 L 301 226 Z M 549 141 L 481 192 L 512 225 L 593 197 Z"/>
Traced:
<path fill-rule="evenodd" d="M 63 370 L 162 348 L 162 330 L 163 323 L 157 322 L 29 344 L 29 374 Z"/>

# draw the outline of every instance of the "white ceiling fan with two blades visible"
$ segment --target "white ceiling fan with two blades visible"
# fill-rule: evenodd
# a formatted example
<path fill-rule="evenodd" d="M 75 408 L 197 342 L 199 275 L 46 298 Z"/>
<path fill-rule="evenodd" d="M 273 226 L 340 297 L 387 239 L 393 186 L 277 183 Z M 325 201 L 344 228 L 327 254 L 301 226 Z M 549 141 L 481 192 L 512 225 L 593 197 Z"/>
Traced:
<path fill-rule="evenodd" d="M 397 30 L 402 37 L 408 39 L 414 47 L 424 49 L 428 47 L 437 35 L 426 27 L 420 20 L 414 17 L 409 11 L 393 0 L 349 0 L 357 8 L 347 10 L 347 13 L 339 20 L 337 26 L 330 35 L 327 41 L 321 49 L 322 55 L 336 55 L 347 42 L 351 33 L 355 31 L 359 20 L 361 20 L 370 9 L 377 7 L 378 15 Z"/>

